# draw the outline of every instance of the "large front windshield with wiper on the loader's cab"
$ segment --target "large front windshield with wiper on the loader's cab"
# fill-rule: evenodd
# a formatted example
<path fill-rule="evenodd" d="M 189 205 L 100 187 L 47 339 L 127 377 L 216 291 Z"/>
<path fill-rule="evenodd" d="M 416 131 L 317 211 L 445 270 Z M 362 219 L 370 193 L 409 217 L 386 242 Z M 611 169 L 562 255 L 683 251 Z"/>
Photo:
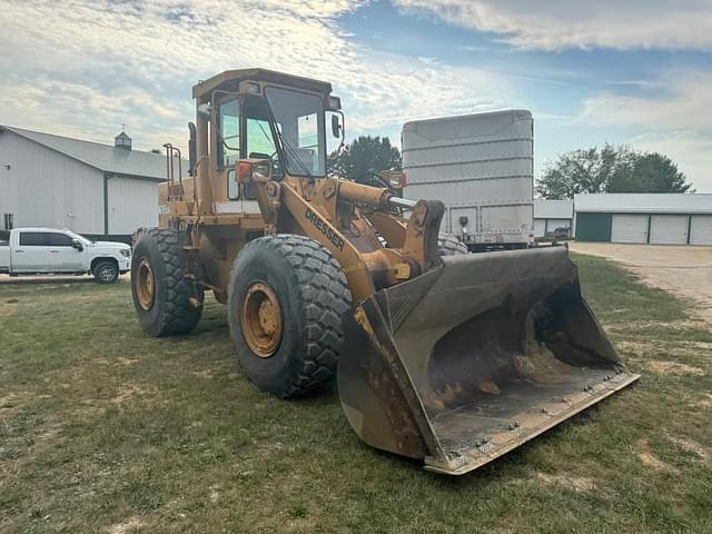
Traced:
<path fill-rule="evenodd" d="M 268 87 L 265 97 L 284 149 L 287 172 L 326 175 L 324 102 L 316 95 Z"/>

